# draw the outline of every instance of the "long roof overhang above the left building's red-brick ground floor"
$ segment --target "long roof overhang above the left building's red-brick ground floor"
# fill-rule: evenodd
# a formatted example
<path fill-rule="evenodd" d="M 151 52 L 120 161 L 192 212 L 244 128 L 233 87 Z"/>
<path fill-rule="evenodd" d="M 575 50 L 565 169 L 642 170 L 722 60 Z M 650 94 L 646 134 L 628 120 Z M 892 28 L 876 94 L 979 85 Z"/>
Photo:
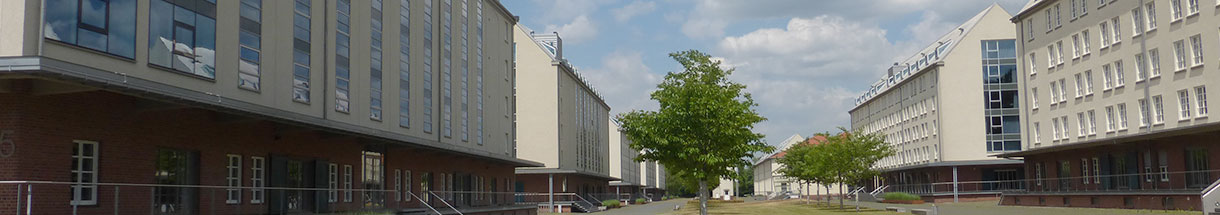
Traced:
<path fill-rule="evenodd" d="M 77 83 L 144 99 L 184 104 L 199 109 L 348 134 L 392 145 L 453 153 L 481 160 L 505 162 L 516 167 L 543 166 L 542 162 L 522 160 L 505 154 L 497 154 L 470 147 L 447 144 L 438 140 L 350 125 L 237 99 L 223 99 L 222 97 L 212 93 L 190 90 L 172 84 L 131 77 L 121 72 L 102 71 L 51 57 L 0 57 L 0 76 L 30 76 Z"/>

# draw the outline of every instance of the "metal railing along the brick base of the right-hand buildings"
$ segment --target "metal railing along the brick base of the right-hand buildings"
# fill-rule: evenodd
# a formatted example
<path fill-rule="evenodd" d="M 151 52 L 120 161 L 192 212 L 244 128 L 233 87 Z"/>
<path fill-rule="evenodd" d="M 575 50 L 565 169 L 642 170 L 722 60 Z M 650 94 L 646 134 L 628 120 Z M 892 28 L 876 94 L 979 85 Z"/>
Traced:
<path fill-rule="evenodd" d="M 1043 172 L 1048 175 L 1050 171 Z M 1058 172 L 1054 172 L 1058 173 Z M 1220 170 L 1202 171 L 1164 171 L 1141 173 L 1113 173 L 1080 176 L 1074 169 L 1068 177 L 1042 177 L 1003 181 L 965 181 L 886 184 L 877 188 L 880 193 L 905 192 L 920 195 L 948 194 L 1022 194 L 1022 193 L 1116 193 L 1116 192 L 1157 192 L 1157 193 L 1198 193 L 1210 182 L 1220 177 Z M 875 192 L 877 192 L 875 191 Z"/>

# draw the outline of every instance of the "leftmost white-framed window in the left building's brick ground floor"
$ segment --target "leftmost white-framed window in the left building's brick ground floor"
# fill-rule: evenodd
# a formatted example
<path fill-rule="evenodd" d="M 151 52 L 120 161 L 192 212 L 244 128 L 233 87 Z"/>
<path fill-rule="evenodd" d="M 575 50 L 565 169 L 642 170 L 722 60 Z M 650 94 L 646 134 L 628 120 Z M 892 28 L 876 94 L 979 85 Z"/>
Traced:
<path fill-rule="evenodd" d="M 72 142 L 72 205 L 98 204 L 98 142 Z"/>

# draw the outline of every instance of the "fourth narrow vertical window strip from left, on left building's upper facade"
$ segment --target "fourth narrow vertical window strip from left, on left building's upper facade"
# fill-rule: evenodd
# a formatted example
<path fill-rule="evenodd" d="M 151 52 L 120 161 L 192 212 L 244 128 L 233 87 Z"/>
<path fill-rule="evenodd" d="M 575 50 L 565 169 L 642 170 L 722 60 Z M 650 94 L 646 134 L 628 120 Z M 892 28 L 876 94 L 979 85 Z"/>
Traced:
<path fill-rule="evenodd" d="M 371 0 L 368 40 L 368 118 L 382 120 L 382 0 Z M 384 193 L 375 193 L 384 194 Z"/>

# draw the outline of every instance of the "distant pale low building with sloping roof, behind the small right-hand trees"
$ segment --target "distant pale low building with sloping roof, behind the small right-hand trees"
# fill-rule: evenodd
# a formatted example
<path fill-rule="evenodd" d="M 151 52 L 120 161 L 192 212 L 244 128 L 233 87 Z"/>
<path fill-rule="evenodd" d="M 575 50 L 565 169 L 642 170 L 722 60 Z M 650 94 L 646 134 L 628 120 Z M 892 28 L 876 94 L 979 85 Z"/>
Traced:
<path fill-rule="evenodd" d="M 780 164 L 780 159 L 783 159 L 783 156 L 787 155 L 784 150 L 797 144 L 821 144 L 825 140 L 826 136 L 819 134 L 808 139 L 800 137 L 800 134 L 792 134 L 792 137 L 784 139 L 780 148 L 776 148 L 775 153 L 771 153 L 754 162 L 754 194 L 764 195 L 770 199 L 784 195 L 825 195 L 842 193 L 838 184 L 832 184 L 830 188 L 817 183 L 802 184 L 797 180 L 783 176 L 783 173 L 780 172 L 784 167 L 783 164 Z"/>

